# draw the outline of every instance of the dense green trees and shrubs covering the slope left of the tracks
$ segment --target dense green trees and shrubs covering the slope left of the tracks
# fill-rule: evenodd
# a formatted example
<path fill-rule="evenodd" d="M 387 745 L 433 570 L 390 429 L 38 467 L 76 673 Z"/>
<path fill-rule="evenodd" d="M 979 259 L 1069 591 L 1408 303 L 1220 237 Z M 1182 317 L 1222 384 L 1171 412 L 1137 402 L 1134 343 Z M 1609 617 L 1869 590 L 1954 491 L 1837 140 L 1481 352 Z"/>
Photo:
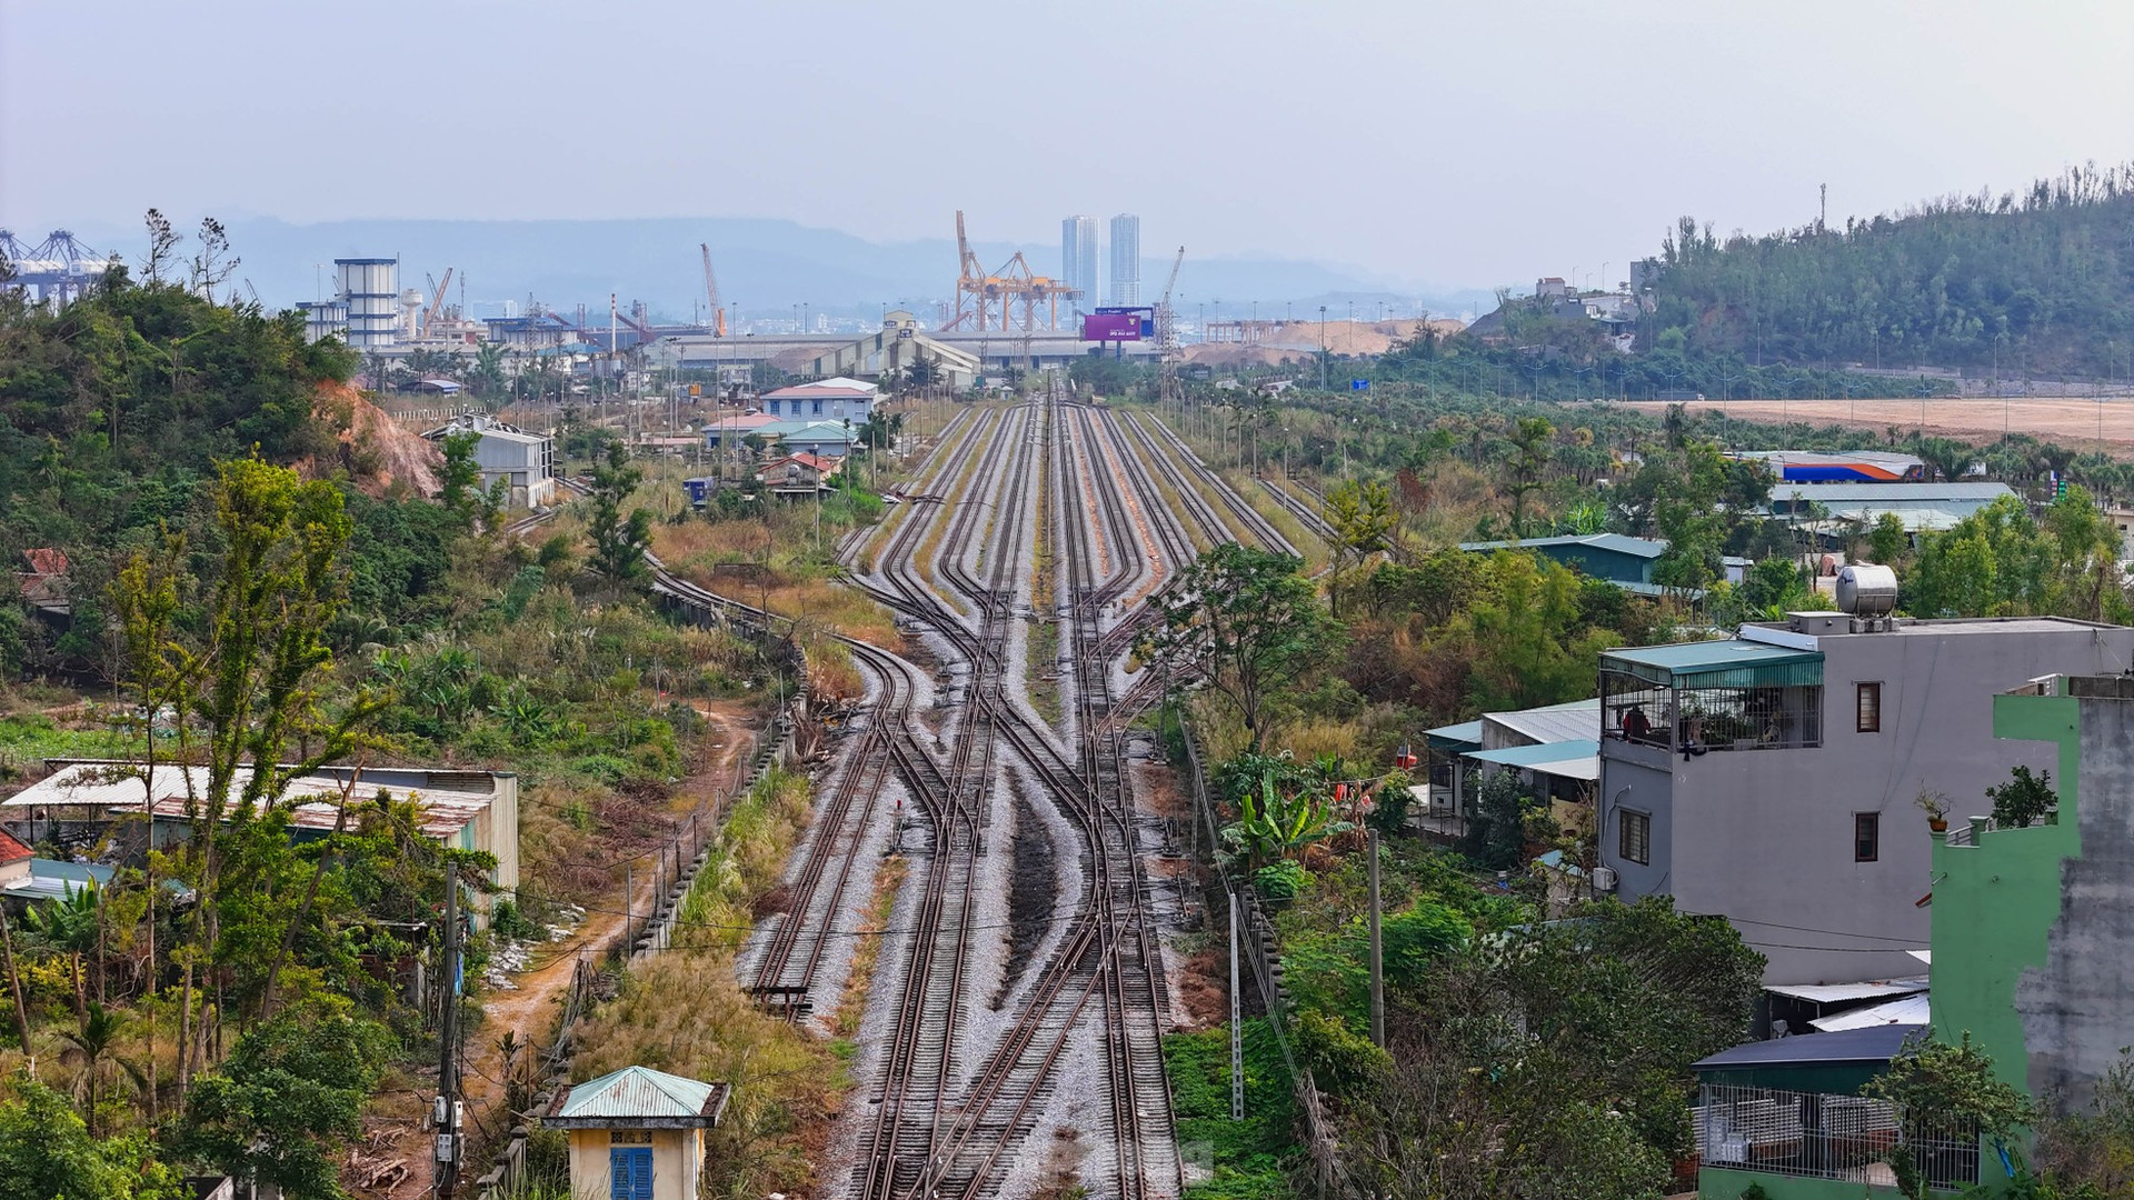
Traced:
<path fill-rule="evenodd" d="M 538 547 L 506 538 L 469 440 L 429 463 L 435 500 L 388 480 L 346 350 L 218 303 L 213 263 L 162 278 L 160 246 L 145 280 L 113 271 L 60 312 L 0 299 L 0 775 L 70 754 L 201 771 L 186 839 L 38 846 L 117 875 L 0 925 L 4 1200 L 162 1200 L 209 1168 L 337 1196 L 348 1140 L 435 1087 L 416 1072 L 440 993 L 412 969 L 435 954 L 446 867 L 484 890 L 493 858 L 367 786 L 297 839 L 288 773 L 241 767 L 516 771 L 523 886 L 472 937 L 459 999 L 480 1059 L 499 940 L 612 910 L 719 786 L 700 709 L 785 692 L 775 656 L 674 626 L 632 585 L 649 512 L 685 515 L 672 478 L 608 463 L 602 504 Z M 15 594 L 19 553 L 47 547 L 66 566 L 41 587 L 66 609 Z"/>

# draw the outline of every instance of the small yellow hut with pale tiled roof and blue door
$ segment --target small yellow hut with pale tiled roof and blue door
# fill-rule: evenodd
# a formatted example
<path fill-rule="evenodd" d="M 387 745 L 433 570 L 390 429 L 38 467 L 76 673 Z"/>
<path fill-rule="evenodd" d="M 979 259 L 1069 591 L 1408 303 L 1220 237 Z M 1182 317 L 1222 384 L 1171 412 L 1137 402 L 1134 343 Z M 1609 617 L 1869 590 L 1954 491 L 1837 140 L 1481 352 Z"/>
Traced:
<path fill-rule="evenodd" d="M 704 1130 L 728 1085 L 623 1068 L 557 1093 L 542 1125 L 570 1134 L 574 1200 L 696 1200 Z"/>

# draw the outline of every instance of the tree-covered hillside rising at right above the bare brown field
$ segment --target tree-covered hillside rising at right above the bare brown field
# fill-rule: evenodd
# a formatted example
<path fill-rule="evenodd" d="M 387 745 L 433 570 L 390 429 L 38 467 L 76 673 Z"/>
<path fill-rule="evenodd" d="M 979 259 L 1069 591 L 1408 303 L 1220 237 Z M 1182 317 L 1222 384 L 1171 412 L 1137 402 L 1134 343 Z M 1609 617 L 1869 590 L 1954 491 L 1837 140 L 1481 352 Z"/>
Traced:
<path fill-rule="evenodd" d="M 2134 164 L 2070 167 L 2023 192 L 1716 237 L 1682 218 L 1660 250 L 1639 348 L 1750 365 L 2000 367 L 2128 378 Z"/>

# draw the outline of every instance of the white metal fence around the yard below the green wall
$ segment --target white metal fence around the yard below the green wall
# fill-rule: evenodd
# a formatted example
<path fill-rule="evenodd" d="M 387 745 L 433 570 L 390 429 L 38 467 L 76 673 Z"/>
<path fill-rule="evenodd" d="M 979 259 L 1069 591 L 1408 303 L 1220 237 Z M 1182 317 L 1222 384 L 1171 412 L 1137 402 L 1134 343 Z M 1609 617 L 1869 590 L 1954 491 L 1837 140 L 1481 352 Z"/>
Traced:
<path fill-rule="evenodd" d="M 1707 1083 L 1692 1110 L 1705 1166 L 1895 1185 L 1891 1157 L 1938 1189 L 1978 1183 L 1978 1125 L 1910 1127 L 1884 1100 Z"/>

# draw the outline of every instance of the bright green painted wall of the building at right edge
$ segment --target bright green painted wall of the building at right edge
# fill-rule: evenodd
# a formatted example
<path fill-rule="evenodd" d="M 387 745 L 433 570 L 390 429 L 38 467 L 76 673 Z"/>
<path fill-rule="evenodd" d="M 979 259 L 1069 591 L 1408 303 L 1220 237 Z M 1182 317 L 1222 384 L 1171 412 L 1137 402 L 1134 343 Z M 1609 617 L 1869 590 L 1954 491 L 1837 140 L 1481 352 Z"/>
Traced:
<path fill-rule="evenodd" d="M 1970 1031 L 1993 1055 L 1995 1074 L 2029 1091 L 2014 989 L 2027 967 L 2044 965 L 2047 933 L 2059 918 L 2059 863 L 2081 854 L 2081 700 L 1993 696 L 1993 735 L 2059 745 L 2059 824 L 1997 828 L 1976 846 L 1933 837 L 1933 1029 L 1950 1042 Z M 1997 781 L 1980 781 L 1976 796 L 1950 796 L 1950 826 L 1991 811 L 1985 788 Z"/>

